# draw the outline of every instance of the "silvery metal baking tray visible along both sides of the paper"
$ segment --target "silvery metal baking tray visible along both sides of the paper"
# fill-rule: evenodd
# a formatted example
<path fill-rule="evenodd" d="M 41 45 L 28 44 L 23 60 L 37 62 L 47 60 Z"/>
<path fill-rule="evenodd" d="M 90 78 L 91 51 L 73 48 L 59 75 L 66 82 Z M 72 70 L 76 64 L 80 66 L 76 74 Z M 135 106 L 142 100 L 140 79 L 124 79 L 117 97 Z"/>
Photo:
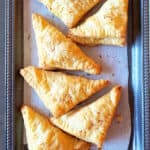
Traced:
<path fill-rule="evenodd" d="M 128 68 L 132 133 L 128 149 L 150 149 L 149 0 L 129 0 Z M 0 1 L 0 149 L 21 150 L 23 1 Z"/>

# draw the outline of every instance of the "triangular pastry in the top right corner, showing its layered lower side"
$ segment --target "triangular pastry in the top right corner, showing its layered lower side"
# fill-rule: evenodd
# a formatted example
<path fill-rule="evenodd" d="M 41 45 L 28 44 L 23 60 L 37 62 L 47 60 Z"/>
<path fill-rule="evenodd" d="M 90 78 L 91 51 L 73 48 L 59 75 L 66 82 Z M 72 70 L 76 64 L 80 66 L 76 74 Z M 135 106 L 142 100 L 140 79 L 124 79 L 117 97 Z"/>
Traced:
<path fill-rule="evenodd" d="M 69 36 L 83 45 L 126 44 L 128 0 L 107 0 L 81 25 L 72 28 Z"/>

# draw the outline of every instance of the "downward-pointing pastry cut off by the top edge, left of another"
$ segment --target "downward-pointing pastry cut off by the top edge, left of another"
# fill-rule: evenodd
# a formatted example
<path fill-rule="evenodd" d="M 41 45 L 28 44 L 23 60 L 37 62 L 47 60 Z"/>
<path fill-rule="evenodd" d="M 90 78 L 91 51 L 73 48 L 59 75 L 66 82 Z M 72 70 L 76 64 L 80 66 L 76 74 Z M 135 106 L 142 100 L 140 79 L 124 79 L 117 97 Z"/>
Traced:
<path fill-rule="evenodd" d="M 68 27 L 79 20 L 101 0 L 39 0 Z"/>

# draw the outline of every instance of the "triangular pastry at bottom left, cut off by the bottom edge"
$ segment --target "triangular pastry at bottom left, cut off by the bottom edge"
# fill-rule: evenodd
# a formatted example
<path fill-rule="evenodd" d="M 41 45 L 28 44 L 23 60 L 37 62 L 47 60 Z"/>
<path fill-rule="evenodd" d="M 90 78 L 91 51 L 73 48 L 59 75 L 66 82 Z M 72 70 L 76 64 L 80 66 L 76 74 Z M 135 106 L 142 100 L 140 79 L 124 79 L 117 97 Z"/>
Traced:
<path fill-rule="evenodd" d="M 29 150 L 88 150 L 90 144 L 64 133 L 29 106 L 21 108 Z"/>

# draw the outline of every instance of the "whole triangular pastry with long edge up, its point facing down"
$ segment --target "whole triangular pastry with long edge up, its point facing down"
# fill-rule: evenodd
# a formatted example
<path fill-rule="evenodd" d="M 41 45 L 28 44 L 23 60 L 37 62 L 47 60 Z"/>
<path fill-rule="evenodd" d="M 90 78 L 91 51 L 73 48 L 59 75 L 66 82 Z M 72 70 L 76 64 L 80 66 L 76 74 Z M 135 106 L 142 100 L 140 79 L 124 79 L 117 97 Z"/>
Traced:
<path fill-rule="evenodd" d="M 45 106 L 56 117 L 106 87 L 107 80 L 91 80 L 35 67 L 21 69 L 21 75 L 37 92 Z"/>

